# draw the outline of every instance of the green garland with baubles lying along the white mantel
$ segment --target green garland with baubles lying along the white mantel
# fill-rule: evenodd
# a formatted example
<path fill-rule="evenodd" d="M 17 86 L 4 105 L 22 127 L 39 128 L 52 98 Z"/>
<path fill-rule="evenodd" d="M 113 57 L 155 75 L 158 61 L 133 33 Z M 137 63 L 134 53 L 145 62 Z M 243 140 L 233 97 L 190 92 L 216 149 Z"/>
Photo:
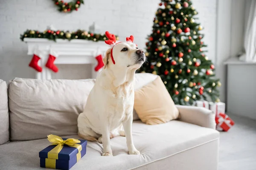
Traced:
<path fill-rule="evenodd" d="M 44 32 L 40 32 L 37 30 L 26 30 L 23 34 L 20 34 L 20 40 L 24 40 L 24 38 L 47 38 L 48 40 L 56 41 L 56 39 L 63 40 L 91 40 L 91 41 L 105 41 L 107 39 L 105 34 L 93 34 L 91 32 L 85 30 L 77 30 L 77 31 L 53 31 L 53 30 L 45 30 Z M 119 37 L 116 35 L 116 40 Z"/>

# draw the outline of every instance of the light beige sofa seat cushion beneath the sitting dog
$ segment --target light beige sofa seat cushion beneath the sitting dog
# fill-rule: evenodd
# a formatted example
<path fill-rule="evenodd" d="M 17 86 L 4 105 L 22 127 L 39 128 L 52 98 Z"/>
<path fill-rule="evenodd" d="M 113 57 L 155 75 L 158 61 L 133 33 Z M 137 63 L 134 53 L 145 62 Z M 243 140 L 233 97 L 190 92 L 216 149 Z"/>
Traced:
<path fill-rule="evenodd" d="M 64 136 L 78 138 L 78 136 Z M 126 139 L 116 136 L 111 139 L 113 157 L 101 156 L 102 144 L 88 142 L 87 153 L 77 162 L 74 170 L 127 170 L 144 166 L 156 160 L 186 152 L 195 147 L 218 141 L 219 133 L 198 125 L 173 120 L 160 125 L 145 125 L 140 121 L 133 123 L 134 145 L 141 155 L 128 155 Z M 216 142 L 218 143 L 218 142 Z M 0 167 L 4 170 L 40 170 L 40 150 L 49 145 L 47 139 L 10 142 L 0 146 Z M 218 146 L 211 148 L 218 152 Z M 198 151 L 194 153 L 202 154 Z M 210 154 L 210 153 L 207 153 Z M 189 154 L 191 158 L 191 153 Z M 193 155 L 193 153 L 192 153 Z M 218 156 L 215 156 L 218 157 Z M 216 158 L 217 159 L 217 158 Z M 201 161 L 201 160 L 200 160 Z M 208 160 L 215 163 L 216 160 Z M 171 162 L 175 166 L 176 162 Z"/>

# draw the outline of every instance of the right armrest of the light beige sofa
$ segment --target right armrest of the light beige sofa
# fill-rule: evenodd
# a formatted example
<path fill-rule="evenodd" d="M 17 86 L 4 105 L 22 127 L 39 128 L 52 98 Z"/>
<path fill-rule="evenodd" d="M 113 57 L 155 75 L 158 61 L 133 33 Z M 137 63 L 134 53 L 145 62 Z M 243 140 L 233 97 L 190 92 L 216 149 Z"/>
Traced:
<path fill-rule="evenodd" d="M 176 107 L 180 112 L 180 121 L 212 129 L 216 128 L 215 114 L 213 111 L 195 106 L 176 105 Z"/>

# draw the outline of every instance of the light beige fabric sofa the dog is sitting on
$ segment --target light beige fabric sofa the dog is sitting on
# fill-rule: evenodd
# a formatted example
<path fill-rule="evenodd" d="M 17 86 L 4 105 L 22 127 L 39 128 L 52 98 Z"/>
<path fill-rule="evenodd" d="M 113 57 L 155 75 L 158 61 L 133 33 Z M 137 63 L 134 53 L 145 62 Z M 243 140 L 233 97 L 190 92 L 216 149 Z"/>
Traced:
<path fill-rule="evenodd" d="M 136 74 L 135 90 L 155 78 Z M 93 79 L 15 78 L 7 93 L 6 82 L 0 80 L 0 169 L 43 170 L 38 153 L 50 144 L 47 135 L 79 139 L 76 119 L 93 84 Z M 72 170 L 217 170 L 214 113 L 177 108 L 180 118 L 160 125 L 145 125 L 134 112 L 134 144 L 141 155 L 128 155 L 122 136 L 111 139 L 113 157 L 101 156 L 102 144 L 88 142 L 86 155 Z"/>

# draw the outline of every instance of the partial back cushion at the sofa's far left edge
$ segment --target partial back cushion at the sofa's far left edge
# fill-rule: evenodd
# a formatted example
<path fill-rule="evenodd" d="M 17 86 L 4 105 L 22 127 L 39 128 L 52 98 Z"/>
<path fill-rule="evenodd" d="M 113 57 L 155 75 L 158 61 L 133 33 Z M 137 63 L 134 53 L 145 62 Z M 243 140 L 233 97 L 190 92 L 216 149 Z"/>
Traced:
<path fill-rule="evenodd" d="M 6 82 L 0 79 L 0 144 L 9 141 L 9 111 Z"/>

